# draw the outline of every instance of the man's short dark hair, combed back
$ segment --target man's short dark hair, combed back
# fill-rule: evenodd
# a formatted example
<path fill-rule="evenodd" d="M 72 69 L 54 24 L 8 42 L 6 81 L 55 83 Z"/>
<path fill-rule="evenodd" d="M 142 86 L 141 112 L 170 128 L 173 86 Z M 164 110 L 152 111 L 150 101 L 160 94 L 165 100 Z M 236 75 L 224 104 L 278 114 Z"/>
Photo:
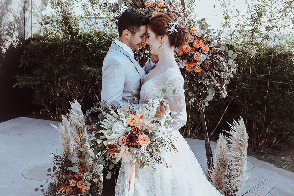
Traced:
<path fill-rule="evenodd" d="M 123 30 L 129 30 L 132 35 L 135 35 L 141 26 L 148 25 L 149 18 L 137 9 L 124 11 L 117 22 L 117 30 L 119 37 L 123 35 Z"/>

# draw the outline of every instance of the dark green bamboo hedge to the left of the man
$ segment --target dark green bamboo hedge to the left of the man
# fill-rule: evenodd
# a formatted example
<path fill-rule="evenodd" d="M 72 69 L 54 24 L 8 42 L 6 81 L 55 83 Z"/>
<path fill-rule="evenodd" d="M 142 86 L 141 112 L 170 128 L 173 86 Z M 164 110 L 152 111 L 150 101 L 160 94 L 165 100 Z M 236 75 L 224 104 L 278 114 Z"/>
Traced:
<path fill-rule="evenodd" d="M 60 120 L 69 101 L 95 102 L 100 98 L 102 63 L 115 37 L 105 32 L 35 35 L 22 56 L 22 66 L 31 71 L 17 75 L 15 86 L 32 89 L 33 103 Z"/>

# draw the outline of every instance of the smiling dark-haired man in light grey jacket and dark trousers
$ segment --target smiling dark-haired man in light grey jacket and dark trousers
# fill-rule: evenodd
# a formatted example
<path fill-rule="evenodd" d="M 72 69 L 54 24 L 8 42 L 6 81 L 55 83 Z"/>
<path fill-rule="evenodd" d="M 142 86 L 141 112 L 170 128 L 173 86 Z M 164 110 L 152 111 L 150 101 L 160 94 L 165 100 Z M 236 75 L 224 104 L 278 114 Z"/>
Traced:
<path fill-rule="evenodd" d="M 138 51 L 140 45 L 146 41 L 148 20 L 144 13 L 136 9 L 125 11 L 119 17 L 117 22 L 119 38 L 112 42 L 103 61 L 101 101 L 109 104 L 118 101 L 121 106 L 125 106 L 128 100 L 133 103 L 133 87 L 139 101 L 144 76 L 158 62 L 158 57 L 152 55 L 142 68 L 134 59 L 134 51 Z M 112 170 L 108 169 L 108 165 L 106 165 L 107 169 L 103 168 L 102 196 L 115 196 L 120 165 Z M 110 179 L 106 179 L 107 170 L 112 173 Z"/>

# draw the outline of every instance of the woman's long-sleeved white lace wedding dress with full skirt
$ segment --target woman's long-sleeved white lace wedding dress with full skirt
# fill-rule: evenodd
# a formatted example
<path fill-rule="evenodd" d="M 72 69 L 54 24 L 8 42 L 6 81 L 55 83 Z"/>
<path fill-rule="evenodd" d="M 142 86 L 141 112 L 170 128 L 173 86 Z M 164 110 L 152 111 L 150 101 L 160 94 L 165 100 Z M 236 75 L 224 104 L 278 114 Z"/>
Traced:
<path fill-rule="evenodd" d="M 135 184 L 131 184 L 130 189 L 130 165 L 122 164 L 115 196 L 222 196 L 206 179 L 194 153 L 178 131 L 186 124 L 187 119 L 184 79 L 179 68 L 170 67 L 164 73 L 143 83 L 141 104 L 147 103 L 149 98 L 158 96 L 167 96 L 169 101 L 175 98 L 176 102 L 169 102 L 169 109 L 177 111 L 177 114 L 172 117 L 177 121 L 171 123 L 171 126 L 172 133 L 176 137 L 173 143 L 178 151 L 165 152 L 163 158 L 170 167 L 155 164 L 155 166 L 146 165 L 143 169 L 137 169 L 139 178 L 135 178 Z M 162 88 L 166 89 L 165 94 Z M 177 90 L 176 94 L 172 93 L 173 89 Z"/>

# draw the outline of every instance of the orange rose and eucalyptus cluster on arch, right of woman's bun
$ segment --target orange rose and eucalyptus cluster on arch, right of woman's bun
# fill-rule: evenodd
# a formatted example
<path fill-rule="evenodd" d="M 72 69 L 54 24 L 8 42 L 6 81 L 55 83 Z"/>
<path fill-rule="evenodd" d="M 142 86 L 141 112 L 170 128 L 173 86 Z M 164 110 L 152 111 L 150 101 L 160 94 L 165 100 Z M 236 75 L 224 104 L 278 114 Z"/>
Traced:
<path fill-rule="evenodd" d="M 237 57 L 226 45 L 221 34 L 209 29 L 205 19 L 190 29 L 190 40 L 182 48 L 175 48 L 175 59 L 184 77 L 186 100 L 198 109 L 208 106 L 216 94 L 227 96 L 226 85 L 236 73 Z"/>

